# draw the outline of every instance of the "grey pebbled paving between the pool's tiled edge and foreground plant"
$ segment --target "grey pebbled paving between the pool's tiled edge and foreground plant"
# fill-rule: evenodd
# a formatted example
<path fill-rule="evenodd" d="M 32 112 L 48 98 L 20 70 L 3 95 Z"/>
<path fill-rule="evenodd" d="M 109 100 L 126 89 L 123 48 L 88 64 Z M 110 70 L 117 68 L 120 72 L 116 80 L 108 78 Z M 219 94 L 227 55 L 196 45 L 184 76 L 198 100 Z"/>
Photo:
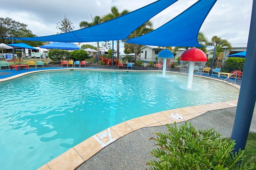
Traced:
<path fill-rule="evenodd" d="M 215 128 L 223 136 L 231 135 L 235 108 L 208 111 L 189 122 L 197 129 Z M 180 125 L 182 123 L 178 123 Z M 251 132 L 256 133 L 256 109 L 251 122 Z M 167 132 L 166 126 L 145 127 L 111 143 L 95 154 L 77 170 L 144 170 L 151 159 L 150 151 L 155 147 L 149 140 L 153 132 Z"/>

